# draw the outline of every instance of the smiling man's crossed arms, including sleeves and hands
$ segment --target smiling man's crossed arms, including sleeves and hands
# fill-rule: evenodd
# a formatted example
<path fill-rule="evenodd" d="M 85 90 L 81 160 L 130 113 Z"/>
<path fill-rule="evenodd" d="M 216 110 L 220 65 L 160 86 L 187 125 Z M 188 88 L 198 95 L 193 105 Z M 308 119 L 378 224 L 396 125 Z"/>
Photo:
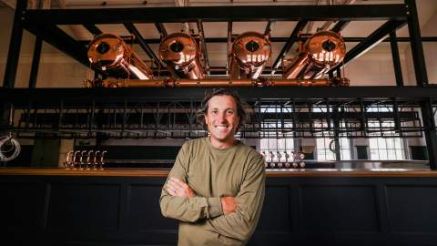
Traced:
<path fill-rule="evenodd" d="M 184 222 L 206 220 L 209 231 L 248 240 L 255 231 L 264 200 L 262 158 L 253 161 L 235 197 L 208 198 L 198 196 L 188 186 L 187 171 L 178 156 L 161 193 L 162 214 Z"/>

